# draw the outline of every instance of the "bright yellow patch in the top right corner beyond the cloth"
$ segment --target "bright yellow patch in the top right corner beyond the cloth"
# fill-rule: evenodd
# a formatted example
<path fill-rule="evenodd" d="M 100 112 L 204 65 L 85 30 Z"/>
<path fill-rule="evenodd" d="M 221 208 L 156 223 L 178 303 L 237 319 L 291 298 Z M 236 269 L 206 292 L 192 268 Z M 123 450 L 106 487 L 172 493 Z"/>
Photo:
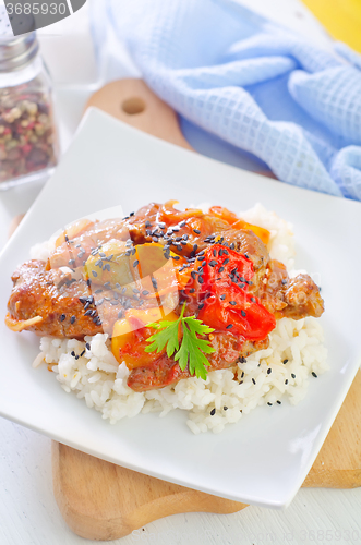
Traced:
<path fill-rule="evenodd" d="M 361 52 L 361 0 L 302 0 L 328 33 Z"/>

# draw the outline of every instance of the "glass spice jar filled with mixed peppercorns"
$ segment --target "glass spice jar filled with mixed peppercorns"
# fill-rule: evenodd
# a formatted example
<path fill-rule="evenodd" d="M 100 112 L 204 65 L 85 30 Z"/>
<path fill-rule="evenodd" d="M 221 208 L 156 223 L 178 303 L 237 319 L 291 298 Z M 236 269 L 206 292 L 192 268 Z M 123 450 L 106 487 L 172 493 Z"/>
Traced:
<path fill-rule="evenodd" d="M 46 179 L 57 157 L 51 81 L 36 34 L 0 32 L 0 191 Z"/>

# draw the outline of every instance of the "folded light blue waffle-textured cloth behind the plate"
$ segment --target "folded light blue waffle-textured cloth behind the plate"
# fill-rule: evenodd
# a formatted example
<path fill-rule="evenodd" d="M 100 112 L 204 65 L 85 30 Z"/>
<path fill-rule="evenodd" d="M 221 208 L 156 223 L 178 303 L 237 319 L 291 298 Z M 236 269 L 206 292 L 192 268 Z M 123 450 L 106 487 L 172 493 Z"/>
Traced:
<path fill-rule="evenodd" d="M 256 155 L 284 182 L 361 201 L 354 51 L 322 50 L 231 0 L 101 8 L 143 78 L 181 116 Z M 101 47 L 98 13 L 93 21 Z"/>

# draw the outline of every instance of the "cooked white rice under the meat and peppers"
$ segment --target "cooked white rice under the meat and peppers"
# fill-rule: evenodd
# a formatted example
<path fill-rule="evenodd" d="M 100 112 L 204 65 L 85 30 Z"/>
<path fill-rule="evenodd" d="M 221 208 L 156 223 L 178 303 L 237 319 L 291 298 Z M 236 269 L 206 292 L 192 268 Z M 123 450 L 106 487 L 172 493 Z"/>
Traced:
<path fill-rule="evenodd" d="M 288 222 L 260 204 L 240 217 L 268 229 L 270 256 L 290 269 L 293 267 L 292 228 Z M 51 244 L 46 243 L 37 245 L 32 255 L 44 259 L 50 251 Z M 74 391 L 111 424 L 140 413 L 158 412 L 165 416 L 181 409 L 188 411 L 186 424 L 194 434 L 208 429 L 219 433 L 226 424 L 238 422 L 257 405 L 298 403 L 306 395 L 309 378 L 328 368 L 323 329 L 316 318 L 282 318 L 269 339 L 269 347 L 239 363 L 236 373 L 234 368 L 213 371 L 206 380 L 192 377 L 145 392 L 135 392 L 127 386 L 130 372 L 112 355 L 107 335 L 85 337 L 84 342 L 43 337 L 41 353 L 34 366 L 46 362 L 64 391 Z"/>

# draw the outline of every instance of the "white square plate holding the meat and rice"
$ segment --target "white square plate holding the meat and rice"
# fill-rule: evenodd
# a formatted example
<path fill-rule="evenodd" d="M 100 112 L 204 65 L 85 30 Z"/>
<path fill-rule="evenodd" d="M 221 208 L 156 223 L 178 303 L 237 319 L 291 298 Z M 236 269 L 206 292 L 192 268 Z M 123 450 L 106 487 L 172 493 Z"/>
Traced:
<path fill-rule="evenodd" d="M 360 203 L 300 190 L 181 149 L 94 109 L 55 175 L 0 256 L 4 317 L 11 274 L 29 247 L 65 223 L 122 205 L 204 201 L 237 211 L 261 202 L 294 226 L 297 267 L 318 274 L 330 371 L 297 407 L 262 407 L 219 435 L 194 436 L 186 415 L 141 414 L 117 425 L 65 393 L 46 366 L 32 368 L 38 338 L 0 324 L 0 413 L 120 465 L 216 496 L 287 506 L 305 479 L 360 364 Z"/>

